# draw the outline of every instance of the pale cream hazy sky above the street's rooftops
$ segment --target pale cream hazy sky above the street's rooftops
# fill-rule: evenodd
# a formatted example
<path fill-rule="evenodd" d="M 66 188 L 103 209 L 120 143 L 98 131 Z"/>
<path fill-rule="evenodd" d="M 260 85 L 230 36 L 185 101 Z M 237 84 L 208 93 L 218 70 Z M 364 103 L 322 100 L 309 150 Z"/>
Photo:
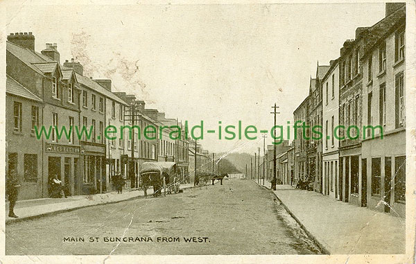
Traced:
<path fill-rule="evenodd" d="M 57 43 L 84 75 L 145 100 L 168 118 L 204 122 L 210 152 L 249 152 L 224 127 L 269 130 L 293 123 L 316 65 L 338 58 L 355 29 L 385 15 L 384 3 L 9 6 L 7 33 L 33 32 L 35 49 Z M 218 139 L 218 121 L 223 133 Z M 216 130 L 207 134 L 206 130 Z M 286 133 L 286 132 L 285 132 Z M 270 133 L 266 144 L 271 143 Z"/>

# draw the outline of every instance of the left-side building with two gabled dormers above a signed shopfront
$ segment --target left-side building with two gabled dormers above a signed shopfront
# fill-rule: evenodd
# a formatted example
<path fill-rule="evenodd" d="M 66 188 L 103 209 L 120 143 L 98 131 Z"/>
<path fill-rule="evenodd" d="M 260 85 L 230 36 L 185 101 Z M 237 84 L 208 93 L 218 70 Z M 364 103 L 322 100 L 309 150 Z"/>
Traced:
<path fill-rule="evenodd" d="M 31 33 L 8 35 L 6 72 L 21 86 L 42 98 L 42 110 L 39 111 L 42 117 L 39 119 L 42 119 L 42 125 L 48 134 L 40 137 L 42 177 L 37 182 L 42 183 L 42 192 L 37 191 L 30 195 L 22 193 L 26 197 L 21 198 L 49 197 L 48 182 L 54 175 L 58 175 L 70 193 L 78 194 L 80 141 L 73 136 L 74 131 L 70 132 L 69 127 L 79 125 L 80 122 L 80 89 L 72 71 L 62 72 L 59 60 L 56 44 L 46 44 L 46 49 L 37 53 L 35 37 Z M 13 139 L 15 140 L 17 139 Z M 9 148 L 8 152 L 15 153 L 15 150 Z M 13 159 L 13 154 L 9 158 Z"/>

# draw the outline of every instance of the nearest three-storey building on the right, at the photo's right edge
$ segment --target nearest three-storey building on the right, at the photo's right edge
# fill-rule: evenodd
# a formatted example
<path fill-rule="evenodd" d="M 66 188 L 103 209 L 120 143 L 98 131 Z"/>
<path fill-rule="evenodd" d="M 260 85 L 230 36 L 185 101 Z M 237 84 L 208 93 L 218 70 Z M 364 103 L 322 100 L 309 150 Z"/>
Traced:
<path fill-rule="evenodd" d="M 401 217 L 406 215 L 405 28 L 404 4 L 387 3 L 385 18 L 363 36 L 363 124 L 379 127 L 362 133 L 358 182 L 361 204 Z"/>

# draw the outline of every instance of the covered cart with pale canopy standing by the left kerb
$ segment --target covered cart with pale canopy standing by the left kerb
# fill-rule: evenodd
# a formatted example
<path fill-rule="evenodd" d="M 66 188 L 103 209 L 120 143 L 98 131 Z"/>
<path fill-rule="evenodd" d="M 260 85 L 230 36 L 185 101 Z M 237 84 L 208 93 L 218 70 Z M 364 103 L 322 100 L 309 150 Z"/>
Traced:
<path fill-rule="evenodd" d="M 147 189 L 153 186 L 153 196 L 166 193 L 179 193 L 180 179 L 177 177 L 175 162 L 144 162 L 140 170 L 141 188 L 144 196 Z"/>

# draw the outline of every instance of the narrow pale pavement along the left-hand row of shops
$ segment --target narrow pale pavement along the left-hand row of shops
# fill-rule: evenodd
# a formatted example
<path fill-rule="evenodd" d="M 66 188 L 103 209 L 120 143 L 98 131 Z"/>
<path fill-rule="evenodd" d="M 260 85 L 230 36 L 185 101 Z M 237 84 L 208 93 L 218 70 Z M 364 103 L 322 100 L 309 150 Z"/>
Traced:
<path fill-rule="evenodd" d="M 181 184 L 181 189 L 192 188 L 193 184 Z M 153 188 L 148 188 L 148 195 L 153 194 Z M 144 191 L 123 189 L 123 193 L 110 191 L 107 193 L 99 193 L 96 195 L 76 195 L 67 198 L 41 198 L 34 200 L 20 200 L 15 205 L 15 214 L 19 218 L 8 217 L 8 205 L 6 202 L 6 225 L 12 222 L 20 222 L 24 220 L 32 220 L 46 215 L 54 215 L 73 211 L 76 209 L 96 206 L 100 204 L 112 204 L 115 202 L 123 202 L 126 200 L 134 200 L 144 197 Z"/>

